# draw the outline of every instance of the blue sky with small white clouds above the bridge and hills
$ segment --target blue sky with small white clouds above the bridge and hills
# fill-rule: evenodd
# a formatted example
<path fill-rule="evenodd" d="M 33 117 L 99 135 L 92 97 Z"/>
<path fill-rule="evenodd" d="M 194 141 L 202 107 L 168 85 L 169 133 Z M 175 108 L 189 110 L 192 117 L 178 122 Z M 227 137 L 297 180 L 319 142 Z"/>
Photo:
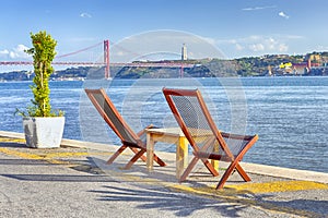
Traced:
<path fill-rule="evenodd" d="M 116 46 L 144 56 L 145 47 L 151 47 L 147 52 L 165 52 L 175 46 L 178 53 L 185 43 L 192 55 L 192 40 L 174 44 L 175 33 L 198 37 L 229 59 L 327 51 L 327 0 L 2 0 L 0 61 L 30 60 L 24 52 L 32 46 L 30 33 L 39 31 L 57 40 L 57 56 L 105 39 L 113 52 Z M 166 40 L 157 39 L 162 33 Z M 132 51 L 126 48 L 131 38 L 140 44 Z M 162 47 L 153 46 L 155 41 Z M 70 58 L 95 60 L 102 49 Z M 4 68 L 0 65 L 0 72 Z"/>

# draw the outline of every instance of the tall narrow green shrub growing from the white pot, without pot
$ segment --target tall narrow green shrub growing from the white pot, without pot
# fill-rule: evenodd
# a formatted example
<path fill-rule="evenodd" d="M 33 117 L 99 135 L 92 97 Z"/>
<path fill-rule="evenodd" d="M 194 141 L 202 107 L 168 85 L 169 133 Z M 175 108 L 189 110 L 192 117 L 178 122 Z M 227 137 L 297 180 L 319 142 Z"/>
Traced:
<path fill-rule="evenodd" d="M 54 111 L 50 105 L 49 77 L 54 72 L 51 62 L 56 56 L 55 48 L 57 41 L 45 31 L 37 34 L 31 33 L 33 48 L 25 50 L 33 56 L 35 76 L 33 85 L 30 86 L 34 95 L 32 106 L 27 106 L 26 111 L 16 109 L 17 114 L 23 117 L 58 117 L 63 116 L 63 111 Z"/>

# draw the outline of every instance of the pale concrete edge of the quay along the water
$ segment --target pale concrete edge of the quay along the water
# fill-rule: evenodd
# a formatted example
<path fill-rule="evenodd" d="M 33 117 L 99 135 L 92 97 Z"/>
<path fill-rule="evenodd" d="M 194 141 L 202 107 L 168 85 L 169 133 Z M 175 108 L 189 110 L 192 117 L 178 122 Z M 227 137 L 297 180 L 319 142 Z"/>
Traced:
<path fill-rule="evenodd" d="M 10 138 L 19 138 L 19 140 L 25 138 L 23 133 L 15 133 L 15 132 L 8 132 L 8 131 L 0 131 L 0 136 L 10 137 Z M 108 152 L 107 144 L 83 142 L 83 141 L 68 140 L 68 138 L 62 138 L 61 147 L 90 148 L 90 149 L 97 149 L 101 152 Z M 244 161 L 242 162 L 242 165 L 243 165 L 244 169 L 250 173 L 285 178 L 285 179 L 292 179 L 292 180 L 313 181 L 313 182 L 328 184 L 328 173 L 325 173 L 325 172 L 297 170 L 297 169 L 291 169 L 291 168 L 282 168 L 282 167 L 276 167 L 276 166 L 244 162 Z"/>

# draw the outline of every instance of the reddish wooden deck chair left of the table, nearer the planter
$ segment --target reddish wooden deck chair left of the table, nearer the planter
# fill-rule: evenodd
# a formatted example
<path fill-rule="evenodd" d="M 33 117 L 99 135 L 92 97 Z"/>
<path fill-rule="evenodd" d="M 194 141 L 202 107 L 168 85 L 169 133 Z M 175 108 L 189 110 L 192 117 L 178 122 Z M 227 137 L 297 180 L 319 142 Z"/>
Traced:
<path fill-rule="evenodd" d="M 119 149 L 108 159 L 107 164 L 110 165 L 128 147 L 134 153 L 134 156 L 126 165 L 125 169 L 129 169 L 139 158 L 145 161 L 144 153 L 147 152 L 147 146 L 144 143 L 144 130 L 137 134 L 132 131 L 107 96 L 105 89 L 85 89 L 85 93 L 102 118 L 104 118 L 105 122 L 122 143 Z M 152 125 L 147 128 L 152 128 Z M 154 161 L 161 167 L 166 166 L 156 155 L 154 155 Z"/>

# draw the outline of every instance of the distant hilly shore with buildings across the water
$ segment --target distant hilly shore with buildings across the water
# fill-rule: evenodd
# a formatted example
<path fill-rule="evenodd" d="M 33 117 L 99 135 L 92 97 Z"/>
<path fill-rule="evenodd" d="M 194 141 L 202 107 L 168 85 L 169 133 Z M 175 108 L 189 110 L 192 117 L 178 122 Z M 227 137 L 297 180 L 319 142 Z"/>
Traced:
<path fill-rule="evenodd" d="M 185 63 L 195 64 L 194 68 L 184 68 L 184 76 L 191 77 L 226 77 L 226 76 L 263 76 L 268 73 L 274 75 L 292 75 L 293 64 L 305 64 L 311 61 L 314 65 L 327 65 L 328 52 L 312 52 L 304 56 L 288 55 L 267 55 L 262 57 L 247 57 L 233 60 L 222 59 L 201 59 L 187 60 Z M 162 62 L 180 62 L 180 61 L 162 61 Z M 156 62 L 157 63 L 157 62 Z M 282 69 L 284 63 L 289 68 Z M 301 64 L 301 65 L 302 65 Z M 56 69 L 55 69 L 56 70 Z M 270 71 L 270 72 L 269 72 Z M 78 66 L 69 68 L 61 71 L 55 71 L 51 80 L 84 80 L 84 78 L 103 78 L 104 68 Z M 304 75 L 326 75 L 323 70 L 314 72 L 301 72 Z M 124 66 L 110 68 L 110 75 L 118 78 L 168 78 L 179 77 L 180 68 L 160 68 L 160 66 Z M 34 74 L 27 71 L 15 71 L 0 73 L 0 81 L 31 81 Z"/>

